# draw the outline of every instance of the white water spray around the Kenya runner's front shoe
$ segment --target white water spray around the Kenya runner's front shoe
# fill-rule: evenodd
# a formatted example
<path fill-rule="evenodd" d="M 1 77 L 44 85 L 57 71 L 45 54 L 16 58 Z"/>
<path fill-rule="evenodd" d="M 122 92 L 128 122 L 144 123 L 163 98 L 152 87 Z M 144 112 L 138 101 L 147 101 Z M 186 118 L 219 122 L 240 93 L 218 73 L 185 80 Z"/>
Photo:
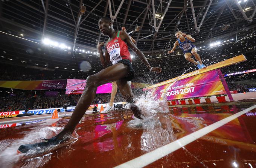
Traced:
<path fill-rule="evenodd" d="M 23 144 L 34 144 L 41 142 L 41 137 L 51 138 L 62 130 L 62 127 L 41 127 L 33 129 L 22 139 L 16 139 L 11 145 L 5 148 L 0 153 L 0 165 L 2 168 L 16 167 L 18 161 L 24 159 L 25 154 L 17 154 L 17 149 Z M 43 156 L 36 156 L 27 160 L 23 160 L 24 163 L 19 167 L 41 167 L 50 160 L 52 153 L 44 154 Z"/>

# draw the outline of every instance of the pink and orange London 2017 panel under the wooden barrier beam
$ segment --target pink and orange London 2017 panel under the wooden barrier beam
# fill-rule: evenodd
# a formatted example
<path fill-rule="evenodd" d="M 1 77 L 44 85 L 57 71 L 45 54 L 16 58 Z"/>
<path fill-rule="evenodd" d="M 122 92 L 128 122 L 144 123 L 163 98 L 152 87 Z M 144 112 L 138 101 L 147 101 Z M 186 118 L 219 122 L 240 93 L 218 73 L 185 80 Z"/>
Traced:
<path fill-rule="evenodd" d="M 156 99 L 166 95 L 167 100 L 226 94 L 216 70 L 158 86 L 150 91 L 156 95 Z"/>

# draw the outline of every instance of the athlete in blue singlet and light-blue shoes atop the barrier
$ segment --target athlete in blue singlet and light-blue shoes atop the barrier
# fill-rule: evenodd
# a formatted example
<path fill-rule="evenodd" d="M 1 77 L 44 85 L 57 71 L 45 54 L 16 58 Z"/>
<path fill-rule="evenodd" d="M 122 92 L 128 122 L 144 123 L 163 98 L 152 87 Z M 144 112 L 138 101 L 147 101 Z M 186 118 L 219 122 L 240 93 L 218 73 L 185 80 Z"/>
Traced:
<path fill-rule="evenodd" d="M 182 33 L 181 31 L 178 31 L 175 36 L 178 40 L 175 41 L 172 50 L 168 51 L 168 54 L 174 52 L 174 49 L 178 45 L 183 50 L 186 60 L 197 65 L 198 69 L 206 68 L 206 66 L 202 63 L 200 55 L 197 54 L 197 47 L 192 44 L 193 42 L 195 42 L 195 39 L 192 38 L 189 34 Z M 195 56 L 197 62 L 193 58 L 191 58 L 192 55 Z"/>

